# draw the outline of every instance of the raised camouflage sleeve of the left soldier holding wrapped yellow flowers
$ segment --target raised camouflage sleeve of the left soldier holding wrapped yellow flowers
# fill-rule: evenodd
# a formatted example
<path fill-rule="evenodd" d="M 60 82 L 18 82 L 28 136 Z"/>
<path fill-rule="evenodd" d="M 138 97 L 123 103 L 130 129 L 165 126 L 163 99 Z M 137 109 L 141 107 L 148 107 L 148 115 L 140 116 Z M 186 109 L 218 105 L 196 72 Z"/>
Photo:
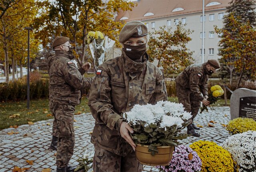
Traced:
<path fill-rule="evenodd" d="M 84 78 L 77 70 L 74 63 L 68 64 L 67 61 L 62 61 L 60 70 L 63 74 L 64 80 L 76 90 L 90 88 L 92 78 Z"/>

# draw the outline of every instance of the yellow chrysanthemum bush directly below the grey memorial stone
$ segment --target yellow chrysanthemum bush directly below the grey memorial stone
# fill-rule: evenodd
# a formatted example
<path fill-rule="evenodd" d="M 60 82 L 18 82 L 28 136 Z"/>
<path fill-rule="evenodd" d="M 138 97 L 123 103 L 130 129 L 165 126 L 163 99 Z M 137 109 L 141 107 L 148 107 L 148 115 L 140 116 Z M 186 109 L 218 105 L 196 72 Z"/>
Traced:
<path fill-rule="evenodd" d="M 256 131 L 256 121 L 251 118 L 235 118 L 228 122 L 226 130 L 232 135 L 246 131 Z"/>

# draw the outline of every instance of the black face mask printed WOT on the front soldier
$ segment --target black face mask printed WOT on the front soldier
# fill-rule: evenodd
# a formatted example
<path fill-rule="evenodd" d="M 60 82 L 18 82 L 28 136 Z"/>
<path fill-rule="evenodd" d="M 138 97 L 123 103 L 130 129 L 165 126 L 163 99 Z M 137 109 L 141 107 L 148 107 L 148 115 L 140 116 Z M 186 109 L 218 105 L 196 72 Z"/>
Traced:
<path fill-rule="evenodd" d="M 124 44 L 124 52 L 132 61 L 139 62 L 140 57 L 146 53 L 146 44 L 135 46 Z"/>

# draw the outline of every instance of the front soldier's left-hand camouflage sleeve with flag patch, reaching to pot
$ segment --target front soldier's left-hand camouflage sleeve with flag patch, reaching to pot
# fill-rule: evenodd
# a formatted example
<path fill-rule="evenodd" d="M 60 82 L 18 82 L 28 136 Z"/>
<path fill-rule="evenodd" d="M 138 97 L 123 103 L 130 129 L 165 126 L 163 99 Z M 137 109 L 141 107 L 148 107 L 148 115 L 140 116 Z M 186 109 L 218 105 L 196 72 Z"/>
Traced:
<path fill-rule="evenodd" d="M 102 68 L 98 69 L 101 73 L 97 74 L 92 82 L 88 93 L 88 106 L 98 123 L 105 123 L 110 129 L 119 131 L 123 118 L 113 110 L 111 104 L 110 78 Z"/>

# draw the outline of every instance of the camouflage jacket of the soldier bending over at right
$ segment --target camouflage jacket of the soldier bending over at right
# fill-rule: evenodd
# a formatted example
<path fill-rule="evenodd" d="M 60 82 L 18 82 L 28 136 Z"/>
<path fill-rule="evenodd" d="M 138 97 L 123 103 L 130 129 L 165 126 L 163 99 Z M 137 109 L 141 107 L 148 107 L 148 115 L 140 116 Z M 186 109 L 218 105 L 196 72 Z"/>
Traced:
<path fill-rule="evenodd" d="M 207 81 L 208 71 L 205 63 L 186 67 L 175 79 L 177 86 L 183 89 L 190 89 L 200 101 L 204 99 L 203 96 L 208 95 Z"/>

